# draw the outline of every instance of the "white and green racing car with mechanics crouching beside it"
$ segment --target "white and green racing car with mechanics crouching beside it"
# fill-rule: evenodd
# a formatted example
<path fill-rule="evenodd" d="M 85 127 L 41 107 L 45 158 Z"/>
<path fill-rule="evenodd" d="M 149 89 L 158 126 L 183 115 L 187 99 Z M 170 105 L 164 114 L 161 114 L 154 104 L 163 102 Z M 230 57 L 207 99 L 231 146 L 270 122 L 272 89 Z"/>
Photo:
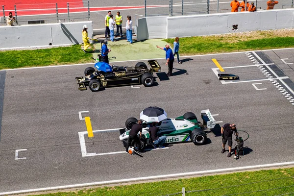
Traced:
<path fill-rule="evenodd" d="M 167 136 L 165 144 L 192 141 L 195 145 L 203 145 L 207 140 L 206 132 L 204 130 L 206 128 L 214 128 L 216 121 L 209 110 L 202 110 L 201 118 L 203 124 L 198 122 L 194 113 L 187 112 L 183 116 L 175 119 L 165 119 L 156 124 L 156 126 L 159 127 L 158 136 Z M 129 131 L 137 121 L 136 118 L 128 118 L 125 122 L 126 128 L 120 130 L 120 140 L 123 141 L 124 147 L 127 144 Z M 143 122 L 142 124 L 141 149 L 152 144 L 152 139 L 148 132 L 150 124 L 150 122 Z M 133 141 L 133 147 L 138 148 L 138 145 L 139 144 L 134 144 Z"/>

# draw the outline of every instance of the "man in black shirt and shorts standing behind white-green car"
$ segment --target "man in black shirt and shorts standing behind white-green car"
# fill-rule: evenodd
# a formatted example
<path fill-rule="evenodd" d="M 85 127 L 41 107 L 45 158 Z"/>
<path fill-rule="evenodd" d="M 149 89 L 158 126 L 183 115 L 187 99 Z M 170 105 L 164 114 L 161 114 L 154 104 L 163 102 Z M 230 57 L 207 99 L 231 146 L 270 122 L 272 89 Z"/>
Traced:
<path fill-rule="evenodd" d="M 233 145 L 233 140 L 232 140 L 232 136 L 233 136 L 233 132 L 235 131 L 236 136 L 238 136 L 238 132 L 237 132 L 237 128 L 235 124 L 230 124 L 230 123 L 226 123 L 221 127 L 221 138 L 222 138 L 222 150 L 221 153 L 225 152 L 225 145 L 228 142 L 228 146 L 229 146 L 229 153 L 228 153 L 228 157 L 230 157 L 231 154 L 231 150 L 232 150 L 232 145 Z"/>

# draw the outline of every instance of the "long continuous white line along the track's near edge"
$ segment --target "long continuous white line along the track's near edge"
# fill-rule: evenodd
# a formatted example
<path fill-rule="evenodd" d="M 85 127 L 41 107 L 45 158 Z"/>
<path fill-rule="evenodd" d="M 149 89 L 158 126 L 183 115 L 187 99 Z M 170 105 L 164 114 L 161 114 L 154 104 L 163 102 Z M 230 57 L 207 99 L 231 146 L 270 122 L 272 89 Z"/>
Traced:
<path fill-rule="evenodd" d="M 294 165 L 294 161 L 293 162 L 264 164 L 264 165 L 254 165 L 254 166 L 223 168 L 223 169 L 206 170 L 206 171 L 199 171 L 199 172 L 172 173 L 172 174 L 154 175 L 154 176 L 147 176 L 147 177 L 126 178 L 126 179 L 118 179 L 118 180 L 90 182 L 90 183 L 83 183 L 83 184 L 72 184 L 72 185 L 64 185 L 64 186 L 56 186 L 56 187 L 46 187 L 46 188 L 39 188 L 39 189 L 27 189 L 27 190 L 20 190 L 20 191 L 3 192 L 3 193 L 0 193 L 0 196 L 21 194 L 21 193 L 28 193 L 28 192 L 38 192 L 38 191 L 49 191 L 49 190 L 57 190 L 57 189 L 85 187 L 85 186 L 93 186 L 93 185 L 123 183 L 123 182 L 130 182 L 130 181 L 139 181 L 139 180 L 151 180 L 151 179 L 180 177 L 180 176 L 189 176 L 189 175 L 201 175 L 201 174 L 219 173 L 219 172 L 235 172 L 235 171 L 244 171 L 244 170 L 270 168 L 270 167 L 281 167 L 281 166 L 288 166 L 288 165 Z"/>

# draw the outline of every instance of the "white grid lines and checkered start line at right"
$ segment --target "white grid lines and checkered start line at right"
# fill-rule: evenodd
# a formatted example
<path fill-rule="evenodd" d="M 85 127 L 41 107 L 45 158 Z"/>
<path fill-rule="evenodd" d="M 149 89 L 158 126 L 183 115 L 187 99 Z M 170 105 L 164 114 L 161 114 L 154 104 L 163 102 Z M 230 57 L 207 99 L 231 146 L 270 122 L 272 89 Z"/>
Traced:
<path fill-rule="evenodd" d="M 269 64 L 265 63 L 255 52 L 245 52 L 245 54 L 254 63 L 254 65 L 245 65 L 245 66 L 236 66 L 236 67 L 223 67 L 223 69 L 244 68 L 244 67 L 257 67 L 267 77 L 267 79 L 256 79 L 256 80 L 245 80 L 245 81 L 224 81 L 224 80 L 220 80 L 221 81 L 221 84 L 271 81 L 271 83 L 289 100 L 289 102 L 291 102 L 291 104 L 294 105 L 294 98 L 289 93 L 289 92 L 291 92 L 294 95 L 294 91 L 283 81 L 283 79 L 288 79 L 289 77 L 287 77 L 287 76 L 279 77 L 269 67 L 269 65 L 275 65 L 275 64 L 274 63 L 269 63 Z M 282 59 L 282 60 L 284 60 L 284 59 Z M 286 63 L 286 64 L 289 64 L 289 63 Z M 219 68 L 212 68 L 212 71 L 216 74 L 216 76 L 218 76 L 218 73 L 219 73 L 218 70 L 220 70 L 220 69 Z M 287 89 L 285 89 L 280 83 L 282 83 Z M 261 83 L 254 83 L 254 84 L 252 84 L 253 87 L 256 90 L 266 90 L 266 88 L 264 88 L 264 89 L 258 89 L 255 86 L 256 84 L 261 84 Z"/>

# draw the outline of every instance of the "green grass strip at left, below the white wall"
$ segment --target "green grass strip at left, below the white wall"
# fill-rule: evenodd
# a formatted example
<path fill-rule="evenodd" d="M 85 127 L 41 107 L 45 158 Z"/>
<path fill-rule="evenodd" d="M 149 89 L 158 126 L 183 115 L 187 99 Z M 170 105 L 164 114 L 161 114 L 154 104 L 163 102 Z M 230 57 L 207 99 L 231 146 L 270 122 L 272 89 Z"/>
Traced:
<path fill-rule="evenodd" d="M 80 45 L 52 49 L 0 51 L 0 69 L 76 64 L 93 62 L 92 53 L 84 53 Z"/>

